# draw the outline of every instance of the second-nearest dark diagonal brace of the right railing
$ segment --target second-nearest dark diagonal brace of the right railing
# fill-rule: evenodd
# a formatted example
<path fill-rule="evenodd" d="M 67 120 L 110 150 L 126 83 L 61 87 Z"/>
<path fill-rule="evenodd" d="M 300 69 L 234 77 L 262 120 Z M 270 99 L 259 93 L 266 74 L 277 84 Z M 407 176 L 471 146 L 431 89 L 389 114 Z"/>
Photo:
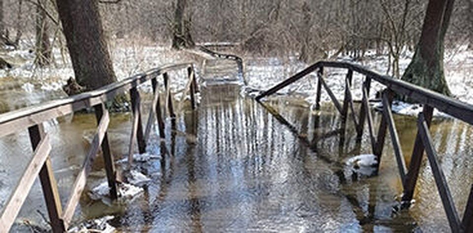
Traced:
<path fill-rule="evenodd" d="M 403 187 L 405 186 L 405 174 L 407 168 L 405 167 L 404 155 L 399 142 L 399 135 L 396 131 L 396 124 L 394 123 L 393 113 L 391 111 L 391 104 L 389 104 L 388 98 L 383 98 L 383 115 L 388 123 L 389 133 L 391 135 L 391 141 L 393 143 L 394 154 L 396 156 L 396 162 L 398 163 L 399 175 Z"/>

